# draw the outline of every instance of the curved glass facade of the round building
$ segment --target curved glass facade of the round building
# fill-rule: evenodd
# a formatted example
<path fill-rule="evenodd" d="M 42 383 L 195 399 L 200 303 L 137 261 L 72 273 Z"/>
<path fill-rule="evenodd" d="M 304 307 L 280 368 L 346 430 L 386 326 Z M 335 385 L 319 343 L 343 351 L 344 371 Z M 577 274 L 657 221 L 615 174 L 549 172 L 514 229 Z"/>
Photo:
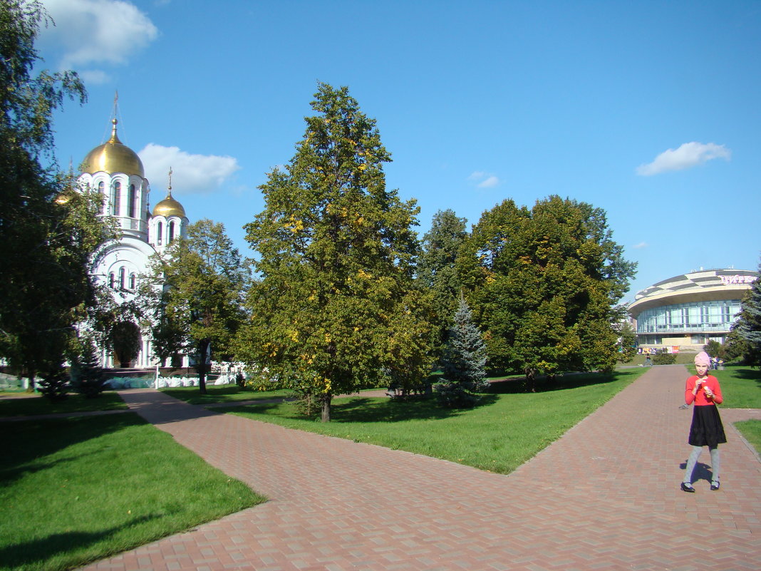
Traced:
<path fill-rule="evenodd" d="M 739 299 L 663 305 L 637 316 L 637 333 L 727 333 L 739 311 Z"/>

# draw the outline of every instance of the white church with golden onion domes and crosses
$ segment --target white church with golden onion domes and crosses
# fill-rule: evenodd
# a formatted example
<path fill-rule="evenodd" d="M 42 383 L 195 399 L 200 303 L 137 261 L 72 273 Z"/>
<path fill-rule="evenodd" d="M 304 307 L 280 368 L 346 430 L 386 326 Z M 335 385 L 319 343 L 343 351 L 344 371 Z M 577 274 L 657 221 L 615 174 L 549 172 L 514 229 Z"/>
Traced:
<path fill-rule="evenodd" d="M 135 298 L 141 274 L 148 273 L 149 258 L 162 252 L 175 238 L 185 236 L 188 219 L 185 209 L 172 197 L 171 171 L 167 196 L 150 209 L 151 188 L 137 153 L 123 145 L 113 121 L 110 139 L 84 158 L 81 188 L 97 190 L 103 200 L 101 214 L 116 219 L 121 238 L 107 244 L 91 263 L 91 275 L 113 290 L 117 301 Z M 135 328 L 139 329 L 137 324 Z M 154 358 L 151 332 L 140 330 L 140 350 L 129 362 L 117 362 L 112 352 L 102 350 L 102 366 L 107 368 L 151 368 Z M 187 357 L 183 360 L 186 361 Z M 186 363 L 183 363 L 186 365 Z"/>

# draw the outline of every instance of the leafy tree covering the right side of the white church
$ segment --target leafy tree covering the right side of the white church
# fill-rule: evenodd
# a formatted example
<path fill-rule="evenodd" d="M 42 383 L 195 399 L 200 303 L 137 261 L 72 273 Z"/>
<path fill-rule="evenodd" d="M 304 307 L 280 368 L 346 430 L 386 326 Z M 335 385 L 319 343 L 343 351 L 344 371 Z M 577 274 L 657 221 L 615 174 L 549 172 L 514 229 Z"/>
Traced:
<path fill-rule="evenodd" d="M 229 356 L 244 321 L 247 269 L 224 225 L 201 219 L 189 225 L 187 235 L 174 241 L 163 257 L 157 254 L 152 270 L 141 293 L 155 316 L 154 333 L 161 335 L 170 324 L 174 339 L 187 340 L 185 349 L 196 359 L 200 392 L 206 394 L 209 360 Z"/>

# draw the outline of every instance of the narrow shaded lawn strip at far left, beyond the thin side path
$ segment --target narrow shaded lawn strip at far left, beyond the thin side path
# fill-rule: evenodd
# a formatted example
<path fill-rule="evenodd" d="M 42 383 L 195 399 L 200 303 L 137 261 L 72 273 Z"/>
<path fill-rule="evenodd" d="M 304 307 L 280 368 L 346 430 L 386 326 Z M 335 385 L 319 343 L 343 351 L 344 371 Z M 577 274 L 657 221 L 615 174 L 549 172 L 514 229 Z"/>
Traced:
<path fill-rule="evenodd" d="M 97 398 L 85 398 L 81 394 L 72 393 L 64 400 L 56 402 L 46 399 L 41 394 L 16 392 L 9 395 L 12 396 L 0 399 L 0 417 L 127 409 L 127 405 L 114 391 L 105 391 Z"/>

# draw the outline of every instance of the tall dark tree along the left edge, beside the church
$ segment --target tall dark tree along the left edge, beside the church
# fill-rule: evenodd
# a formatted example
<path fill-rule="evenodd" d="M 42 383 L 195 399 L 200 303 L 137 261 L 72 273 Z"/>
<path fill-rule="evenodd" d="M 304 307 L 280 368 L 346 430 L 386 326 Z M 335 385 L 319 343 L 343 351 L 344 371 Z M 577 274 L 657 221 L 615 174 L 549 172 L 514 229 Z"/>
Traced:
<path fill-rule="evenodd" d="M 103 238 L 94 196 L 56 172 L 53 113 L 85 94 L 74 72 L 32 75 L 43 23 L 40 2 L 0 2 L 0 346 L 32 387 L 92 300 L 87 262 Z"/>

